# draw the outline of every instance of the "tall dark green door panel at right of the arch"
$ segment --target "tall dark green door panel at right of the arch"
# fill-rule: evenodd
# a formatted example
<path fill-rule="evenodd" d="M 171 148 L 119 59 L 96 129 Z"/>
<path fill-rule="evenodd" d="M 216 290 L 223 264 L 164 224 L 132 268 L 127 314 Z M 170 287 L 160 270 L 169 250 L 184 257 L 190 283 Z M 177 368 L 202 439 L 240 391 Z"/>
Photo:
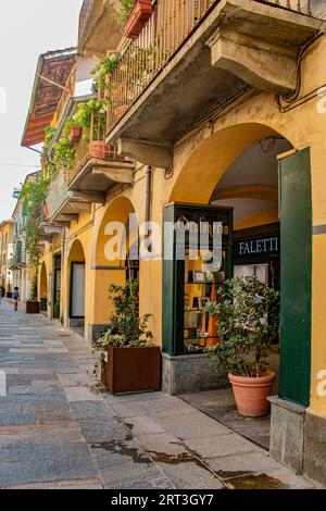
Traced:
<path fill-rule="evenodd" d="M 310 403 L 312 196 L 310 149 L 279 161 L 280 370 L 279 396 Z"/>

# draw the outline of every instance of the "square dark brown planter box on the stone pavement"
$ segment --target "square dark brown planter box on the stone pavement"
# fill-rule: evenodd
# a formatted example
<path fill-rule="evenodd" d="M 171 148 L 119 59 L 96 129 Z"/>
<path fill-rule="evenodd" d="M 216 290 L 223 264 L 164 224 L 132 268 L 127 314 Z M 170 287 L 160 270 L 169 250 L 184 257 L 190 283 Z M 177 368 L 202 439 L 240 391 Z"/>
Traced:
<path fill-rule="evenodd" d="M 161 390 L 161 348 L 109 346 L 101 381 L 112 394 Z"/>

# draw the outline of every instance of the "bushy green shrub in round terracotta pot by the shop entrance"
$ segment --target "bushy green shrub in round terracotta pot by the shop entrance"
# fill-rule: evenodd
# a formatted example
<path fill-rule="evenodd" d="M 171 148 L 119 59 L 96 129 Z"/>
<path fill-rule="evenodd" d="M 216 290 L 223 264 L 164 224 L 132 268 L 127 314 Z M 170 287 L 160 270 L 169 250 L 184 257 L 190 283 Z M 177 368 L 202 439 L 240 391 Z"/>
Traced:
<path fill-rule="evenodd" d="M 228 375 L 239 413 L 267 414 L 267 396 L 275 381 L 275 373 L 267 369 L 268 354 L 279 329 L 279 292 L 256 277 L 231 278 L 206 309 L 218 317 L 222 341 L 209 353 L 216 371 Z"/>

